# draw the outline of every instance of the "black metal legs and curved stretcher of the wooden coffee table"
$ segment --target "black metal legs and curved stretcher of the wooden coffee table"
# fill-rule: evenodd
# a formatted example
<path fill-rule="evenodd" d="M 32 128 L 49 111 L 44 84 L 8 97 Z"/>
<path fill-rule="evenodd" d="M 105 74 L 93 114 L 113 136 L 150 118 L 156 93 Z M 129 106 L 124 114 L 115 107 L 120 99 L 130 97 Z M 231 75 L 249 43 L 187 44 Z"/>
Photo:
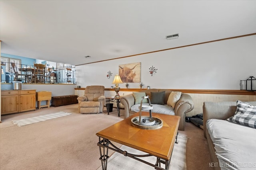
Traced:
<path fill-rule="evenodd" d="M 178 133 L 176 135 L 175 143 L 178 143 L 177 139 L 178 139 Z M 128 156 L 130 158 L 136 159 L 140 162 L 153 166 L 156 170 L 167 170 L 170 167 L 170 162 L 171 162 L 170 160 L 164 160 L 162 158 L 156 157 L 151 154 L 143 154 L 143 155 L 130 154 L 125 150 L 119 149 L 106 138 L 99 137 L 99 142 L 97 143 L 97 145 L 100 148 L 100 160 L 101 160 L 102 170 L 107 170 L 108 158 L 109 158 L 108 149 L 114 150 L 115 152 L 121 153 L 124 156 Z M 156 157 L 156 163 L 152 164 L 150 162 L 146 162 L 145 160 L 140 159 L 140 157 L 148 157 L 148 156 Z M 165 165 L 164 168 L 161 167 L 161 164 Z"/>

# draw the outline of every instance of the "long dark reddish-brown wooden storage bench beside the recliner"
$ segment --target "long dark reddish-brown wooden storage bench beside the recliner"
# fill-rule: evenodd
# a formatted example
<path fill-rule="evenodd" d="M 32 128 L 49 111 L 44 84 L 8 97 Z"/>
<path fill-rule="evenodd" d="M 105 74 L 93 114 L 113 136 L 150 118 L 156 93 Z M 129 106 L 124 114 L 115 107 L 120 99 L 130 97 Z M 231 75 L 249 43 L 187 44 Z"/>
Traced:
<path fill-rule="evenodd" d="M 77 95 L 66 95 L 66 96 L 53 96 L 52 97 L 52 106 L 64 106 L 69 104 L 77 104 L 78 100 L 76 99 Z"/>

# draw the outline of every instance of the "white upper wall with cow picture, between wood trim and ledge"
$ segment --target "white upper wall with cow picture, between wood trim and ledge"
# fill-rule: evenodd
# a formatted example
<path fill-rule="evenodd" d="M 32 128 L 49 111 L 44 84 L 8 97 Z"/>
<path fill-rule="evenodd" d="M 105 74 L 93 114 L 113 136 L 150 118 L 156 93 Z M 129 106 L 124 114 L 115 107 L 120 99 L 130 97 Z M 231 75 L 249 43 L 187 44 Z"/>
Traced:
<path fill-rule="evenodd" d="M 81 87 L 110 88 L 119 64 L 140 62 L 144 88 L 240 90 L 240 80 L 256 77 L 255 54 L 256 35 L 252 35 L 76 66 L 76 80 Z M 158 69 L 153 76 L 149 74 L 152 65 Z M 110 79 L 106 77 L 109 70 Z M 125 88 L 125 83 L 119 86 Z M 129 83 L 129 88 L 139 88 L 139 83 Z"/>

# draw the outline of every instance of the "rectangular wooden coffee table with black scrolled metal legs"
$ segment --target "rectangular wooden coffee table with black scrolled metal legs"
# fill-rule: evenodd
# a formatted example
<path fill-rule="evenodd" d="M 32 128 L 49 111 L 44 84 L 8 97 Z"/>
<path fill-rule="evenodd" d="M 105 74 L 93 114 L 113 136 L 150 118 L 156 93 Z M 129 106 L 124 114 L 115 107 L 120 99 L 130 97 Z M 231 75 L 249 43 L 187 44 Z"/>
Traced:
<path fill-rule="evenodd" d="M 142 112 L 142 115 L 149 115 L 149 113 Z M 172 149 L 174 143 L 177 143 L 180 117 L 152 113 L 153 117 L 157 117 L 163 121 L 163 127 L 160 129 L 148 130 L 133 127 L 131 125 L 131 118 L 136 116 L 139 116 L 139 113 L 135 113 L 134 115 L 96 133 L 99 137 L 97 145 L 100 147 L 100 160 L 103 170 L 107 169 L 109 158 L 108 149 L 144 162 L 157 170 L 169 168 Z M 130 154 L 125 150 L 120 150 L 112 142 L 120 143 L 148 154 Z M 146 162 L 140 159 L 140 157 L 145 156 L 156 156 L 156 163 L 152 164 L 152 162 Z M 165 164 L 164 168 L 161 168 L 161 163 Z"/>

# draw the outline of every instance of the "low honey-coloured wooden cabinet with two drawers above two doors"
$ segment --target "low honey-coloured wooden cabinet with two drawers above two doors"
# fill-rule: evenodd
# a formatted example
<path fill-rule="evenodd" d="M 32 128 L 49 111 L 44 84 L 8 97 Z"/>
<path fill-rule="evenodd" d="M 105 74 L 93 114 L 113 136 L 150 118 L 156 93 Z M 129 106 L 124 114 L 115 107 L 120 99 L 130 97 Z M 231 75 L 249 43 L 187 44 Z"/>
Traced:
<path fill-rule="evenodd" d="M 1 115 L 36 110 L 36 90 L 2 90 Z"/>

